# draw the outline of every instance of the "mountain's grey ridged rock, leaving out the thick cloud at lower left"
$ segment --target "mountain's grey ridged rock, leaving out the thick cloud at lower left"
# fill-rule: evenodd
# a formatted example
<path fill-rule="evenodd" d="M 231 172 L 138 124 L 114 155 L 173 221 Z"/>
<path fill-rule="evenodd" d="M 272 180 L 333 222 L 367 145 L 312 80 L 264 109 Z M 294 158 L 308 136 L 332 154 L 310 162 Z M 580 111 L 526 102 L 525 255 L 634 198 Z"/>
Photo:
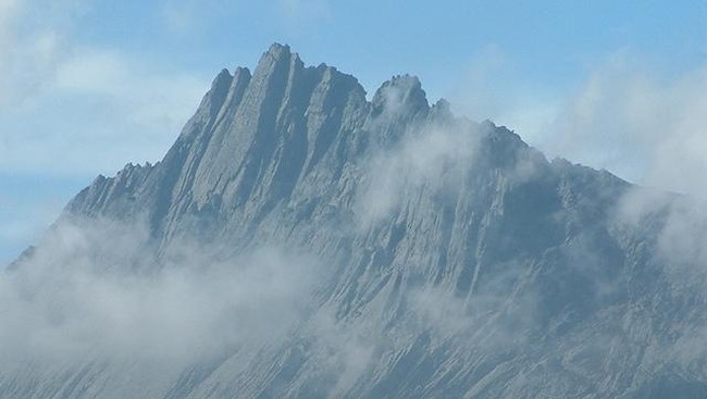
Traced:
<path fill-rule="evenodd" d="M 313 310 L 285 339 L 253 349 L 257 356 L 191 364 L 166 384 L 140 381 L 135 391 L 707 391 L 699 361 L 674 358 L 683 327 L 704 319 L 704 298 L 675 288 L 658 260 L 666 208 L 627 221 L 618 210 L 633 186 L 548 162 L 505 127 L 455 117 L 444 100 L 430 105 L 415 77 L 394 77 L 371 101 L 365 96 L 355 77 L 305 66 L 273 45 L 252 75 L 216 76 L 162 161 L 100 176 L 66 207 L 59 224 L 144 219 L 158 263 L 185 240 L 218 248 L 221 259 L 277 245 L 326 263 Z M 326 339 L 312 332 L 324 316 L 334 331 Z M 107 381 L 134 372 L 96 363 L 65 370 L 55 390 L 0 376 L 0 396 L 112 397 Z"/>

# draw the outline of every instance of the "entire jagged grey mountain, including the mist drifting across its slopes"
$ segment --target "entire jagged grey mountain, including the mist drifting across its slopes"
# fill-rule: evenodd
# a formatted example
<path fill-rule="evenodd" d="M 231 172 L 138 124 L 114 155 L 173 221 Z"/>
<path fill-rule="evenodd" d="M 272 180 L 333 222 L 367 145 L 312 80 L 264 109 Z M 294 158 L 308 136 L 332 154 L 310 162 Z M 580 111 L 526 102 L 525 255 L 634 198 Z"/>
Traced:
<path fill-rule="evenodd" d="M 0 397 L 704 397 L 703 209 L 273 45 L 5 273 Z"/>

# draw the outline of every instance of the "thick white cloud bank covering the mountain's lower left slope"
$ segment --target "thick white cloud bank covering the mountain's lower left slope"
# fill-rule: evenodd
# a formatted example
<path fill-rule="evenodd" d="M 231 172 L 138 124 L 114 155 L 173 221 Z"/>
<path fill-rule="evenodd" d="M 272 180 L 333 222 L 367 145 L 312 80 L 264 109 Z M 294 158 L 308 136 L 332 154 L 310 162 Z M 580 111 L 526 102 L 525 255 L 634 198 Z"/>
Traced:
<path fill-rule="evenodd" d="M 158 265 L 146 241 L 140 224 L 62 223 L 1 275 L 0 372 L 32 360 L 186 365 L 277 342 L 305 319 L 321 277 L 313 259 L 270 247 L 216 261 L 216 246 L 185 242 Z"/>

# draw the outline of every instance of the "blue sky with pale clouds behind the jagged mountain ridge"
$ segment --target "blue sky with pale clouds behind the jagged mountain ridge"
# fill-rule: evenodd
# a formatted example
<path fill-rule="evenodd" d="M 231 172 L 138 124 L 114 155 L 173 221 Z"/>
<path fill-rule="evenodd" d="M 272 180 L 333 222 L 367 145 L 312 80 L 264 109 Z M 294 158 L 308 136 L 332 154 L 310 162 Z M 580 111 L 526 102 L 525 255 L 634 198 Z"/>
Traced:
<path fill-rule="evenodd" d="M 222 67 L 278 41 L 548 155 L 705 196 L 704 1 L 0 0 L 0 263 L 99 173 L 157 161 Z M 704 172 L 704 173 L 703 173 Z"/>

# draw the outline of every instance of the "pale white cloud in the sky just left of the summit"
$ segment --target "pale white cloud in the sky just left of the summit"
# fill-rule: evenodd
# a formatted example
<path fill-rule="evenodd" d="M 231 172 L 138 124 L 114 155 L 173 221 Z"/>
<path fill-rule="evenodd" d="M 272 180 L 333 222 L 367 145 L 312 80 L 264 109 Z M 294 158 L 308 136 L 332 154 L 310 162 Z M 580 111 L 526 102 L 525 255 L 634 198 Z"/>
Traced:
<path fill-rule="evenodd" d="M 156 161 L 208 80 L 163 73 L 116 50 L 75 49 L 46 86 L 32 107 L 0 113 L 5 171 L 113 174 L 128 161 Z"/>

